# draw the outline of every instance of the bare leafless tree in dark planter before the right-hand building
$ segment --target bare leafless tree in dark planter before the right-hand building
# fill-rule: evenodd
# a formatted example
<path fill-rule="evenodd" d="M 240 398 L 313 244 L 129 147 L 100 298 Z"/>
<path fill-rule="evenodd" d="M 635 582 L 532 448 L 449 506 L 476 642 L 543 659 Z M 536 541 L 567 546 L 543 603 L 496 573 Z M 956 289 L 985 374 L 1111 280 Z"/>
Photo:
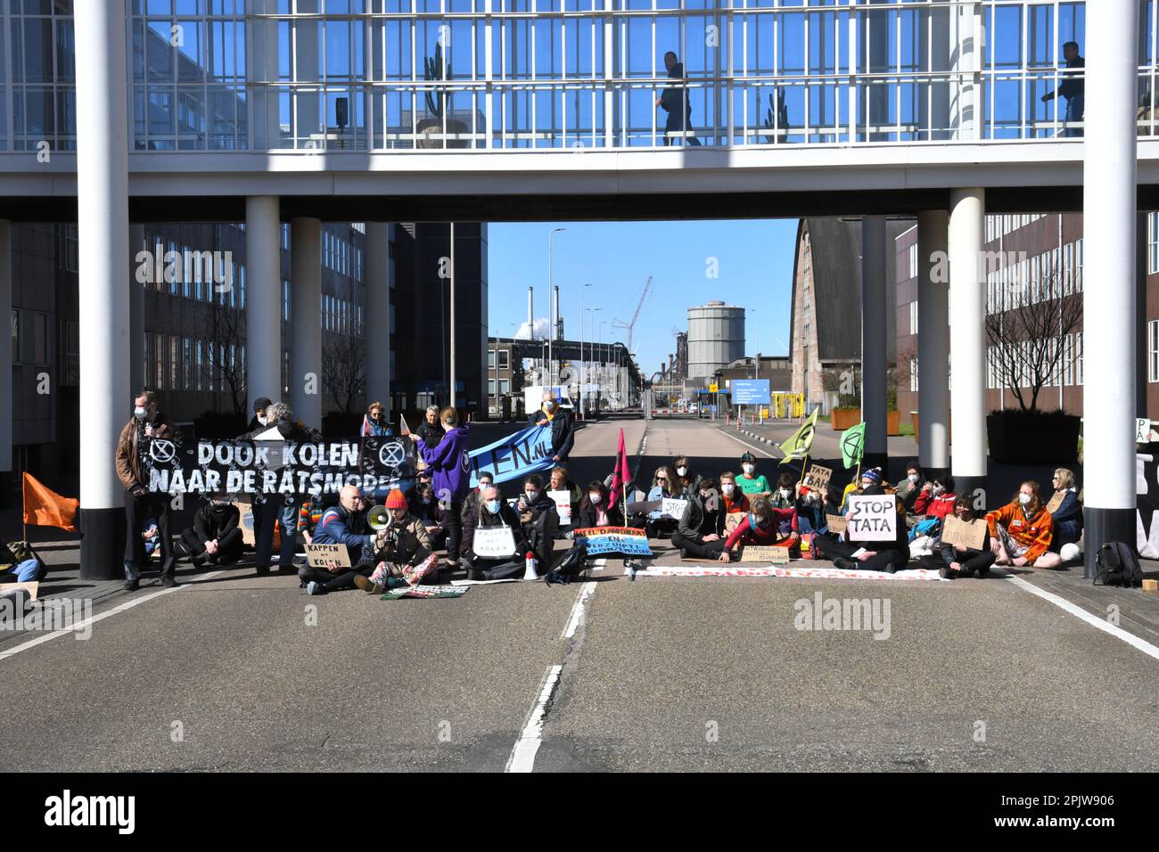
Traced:
<path fill-rule="evenodd" d="M 1083 294 L 1064 292 L 1055 276 L 1023 282 L 1004 297 L 1005 310 L 986 314 L 991 369 L 1019 407 L 1034 412 L 1042 388 L 1062 380 L 1067 344 L 1083 323 Z"/>

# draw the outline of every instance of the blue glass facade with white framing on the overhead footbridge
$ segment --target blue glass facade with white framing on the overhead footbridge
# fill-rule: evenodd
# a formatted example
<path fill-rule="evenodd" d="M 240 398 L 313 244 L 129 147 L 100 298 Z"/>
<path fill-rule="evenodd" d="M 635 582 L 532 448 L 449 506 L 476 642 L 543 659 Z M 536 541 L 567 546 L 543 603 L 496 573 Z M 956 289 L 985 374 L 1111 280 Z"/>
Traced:
<path fill-rule="evenodd" d="M 0 146 L 75 147 L 73 0 L 7 0 Z M 126 0 L 138 151 L 1064 138 L 1060 0 Z M 1140 0 L 1152 133 L 1157 0 Z M 670 72 L 664 54 L 680 66 Z M 657 104 L 664 100 L 670 110 Z M 684 118 L 681 119 L 681 112 Z M 1073 116 L 1072 116 L 1073 118 Z"/>

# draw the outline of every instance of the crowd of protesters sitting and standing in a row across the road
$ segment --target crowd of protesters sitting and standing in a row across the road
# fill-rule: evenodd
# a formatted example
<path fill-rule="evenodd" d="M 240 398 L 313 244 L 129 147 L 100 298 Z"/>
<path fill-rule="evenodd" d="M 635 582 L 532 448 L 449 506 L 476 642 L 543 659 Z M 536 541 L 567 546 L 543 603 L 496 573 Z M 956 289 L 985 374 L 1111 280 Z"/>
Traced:
<path fill-rule="evenodd" d="M 254 563 L 257 573 L 270 570 L 278 549 L 278 570 L 297 569 L 301 587 L 312 595 L 362 588 L 379 592 L 437 570 L 465 569 L 468 580 L 496 580 L 522 575 L 531 558 L 540 570 L 554 559 L 563 530 L 633 526 L 650 539 L 666 539 L 681 559 L 730 562 L 745 547 L 780 547 L 790 558 L 831 560 L 838 568 L 894 573 L 917 559 L 952 578 L 984 576 L 992 565 L 1056 568 L 1078 558 L 1083 510 L 1074 474 L 1059 468 L 1048 505 L 1037 482 L 1023 482 L 1013 500 L 982 515 L 972 495 L 957 494 L 947 474 L 926 479 L 916 463 L 896 487 L 880 468 L 859 469 L 840 490 L 832 482 L 810 485 L 802 474 L 782 472 L 773 480 L 757 471 L 757 459 L 744 453 L 739 471 L 701 473 L 693 461 L 677 456 L 657 467 L 650 481 L 624 483 L 610 490 L 611 476 L 583 488 L 567 468 L 574 445 L 575 423 L 548 391 L 542 406 L 530 417 L 533 425 L 549 427 L 551 469 L 519 480 L 517 497 L 504 500 L 494 475 L 482 469 L 474 487 L 466 463 L 469 424 L 459 422 L 453 407 L 428 408 L 423 422 L 409 434 L 421 460 L 409 497 L 400 489 L 385 498 L 385 517 L 372 524 L 371 501 L 356 486 L 342 488 L 334 505 L 319 496 L 306 504 L 272 498 L 253 503 Z M 246 439 L 269 439 L 270 430 L 285 440 L 314 442 L 321 435 L 296 420 L 290 408 L 265 398 L 255 401 L 254 420 Z M 360 429 L 363 436 L 393 436 L 380 402 L 372 402 Z M 125 486 L 129 542 L 125 552 L 125 588 L 136 589 L 154 549 L 161 560 L 161 583 L 175 584 L 175 563 L 187 556 L 195 566 L 228 566 L 242 555 L 240 510 L 229 495 L 206 498 L 194 523 L 170 536 L 167 495 L 151 493 L 141 472 L 139 444 L 145 437 L 174 437 L 152 392 L 134 400 L 133 417 L 125 425 L 117 449 L 117 472 Z M 647 491 L 644 490 L 647 488 Z M 553 494 L 549 494 L 553 493 Z M 635 500 L 628 500 L 628 494 Z M 895 495 L 895 534 L 881 541 L 852 541 L 847 533 L 830 530 L 831 518 L 851 516 L 851 497 Z M 564 495 L 561 497 L 560 495 Z M 641 500 L 642 497 L 642 500 Z M 556 500 L 560 502 L 557 503 Z M 665 502 L 668 501 L 668 502 Z M 566 509 L 564 509 L 566 504 Z M 561 512 L 568 520 L 561 523 Z M 971 523 L 985 520 L 986 534 L 977 548 L 945 544 L 941 529 L 948 517 Z M 844 524 L 843 524 L 844 526 Z M 480 532 L 511 531 L 509 554 L 476 552 Z M 299 567 L 294 561 L 298 539 L 306 544 L 344 545 L 349 565 Z M 445 551 L 439 563 L 437 551 Z"/>

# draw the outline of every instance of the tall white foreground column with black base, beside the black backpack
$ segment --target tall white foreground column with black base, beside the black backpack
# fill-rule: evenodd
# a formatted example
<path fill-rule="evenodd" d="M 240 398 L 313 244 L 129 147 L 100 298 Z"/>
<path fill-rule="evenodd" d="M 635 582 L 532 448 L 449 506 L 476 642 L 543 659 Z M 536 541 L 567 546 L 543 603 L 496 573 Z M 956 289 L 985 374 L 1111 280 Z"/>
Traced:
<path fill-rule="evenodd" d="M 1135 90 L 1139 7 L 1105 0 L 1087 21 L 1087 103 L 1083 172 L 1086 256 L 1099 286 L 1083 292 L 1084 520 L 1086 576 L 1107 541 L 1135 544 L 1136 415 Z"/>

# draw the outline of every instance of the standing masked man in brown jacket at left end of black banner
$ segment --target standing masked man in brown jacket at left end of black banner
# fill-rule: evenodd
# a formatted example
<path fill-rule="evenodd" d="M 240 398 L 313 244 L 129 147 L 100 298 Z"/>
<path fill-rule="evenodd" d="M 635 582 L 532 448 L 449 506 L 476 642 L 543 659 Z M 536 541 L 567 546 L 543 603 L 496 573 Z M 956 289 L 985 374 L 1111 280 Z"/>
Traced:
<path fill-rule="evenodd" d="M 141 571 L 148 565 L 145 541 L 140 534 L 146 518 L 156 519 L 158 533 L 161 537 L 161 585 L 166 588 L 177 585 L 175 577 L 177 556 L 173 549 L 173 536 L 169 531 L 169 496 L 148 490 L 145 469 L 141 466 L 141 450 L 151 438 L 177 439 L 178 435 L 158 410 L 156 395 L 152 391 L 141 391 L 133 399 L 133 414 L 121 430 L 116 452 L 117 478 L 125 488 L 126 591 L 140 587 Z"/>

